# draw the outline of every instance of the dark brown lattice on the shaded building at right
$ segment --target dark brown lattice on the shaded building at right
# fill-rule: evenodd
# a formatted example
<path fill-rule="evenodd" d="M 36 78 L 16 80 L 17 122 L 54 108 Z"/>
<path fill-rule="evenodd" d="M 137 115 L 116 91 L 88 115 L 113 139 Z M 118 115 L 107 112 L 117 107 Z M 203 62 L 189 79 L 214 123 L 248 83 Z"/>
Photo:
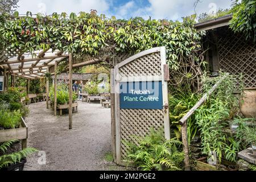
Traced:
<path fill-rule="evenodd" d="M 246 88 L 256 87 L 256 44 L 244 36 L 227 31 L 218 41 L 220 69 L 240 75 Z"/>

